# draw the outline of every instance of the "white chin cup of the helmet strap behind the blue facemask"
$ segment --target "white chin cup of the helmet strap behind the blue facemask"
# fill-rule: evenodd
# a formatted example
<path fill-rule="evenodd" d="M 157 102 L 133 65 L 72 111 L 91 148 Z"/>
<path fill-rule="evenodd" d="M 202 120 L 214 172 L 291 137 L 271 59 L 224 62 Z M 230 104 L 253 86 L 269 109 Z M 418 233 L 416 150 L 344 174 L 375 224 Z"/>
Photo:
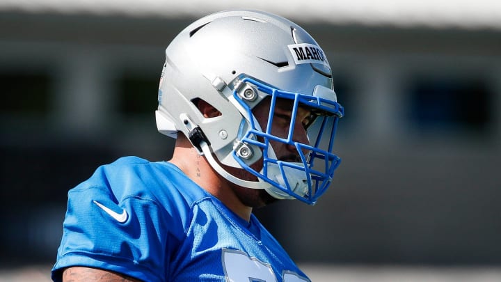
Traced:
<path fill-rule="evenodd" d="M 298 166 L 303 166 L 301 162 L 292 162 L 290 164 L 296 164 Z M 268 178 L 277 182 L 280 186 L 287 188 L 287 182 L 292 193 L 298 196 L 305 196 L 308 194 L 308 179 L 306 178 L 305 171 L 300 171 L 299 169 L 294 169 L 290 166 L 283 166 L 284 174 L 280 171 L 278 164 L 268 164 Z M 264 174 L 263 171 L 261 171 Z M 285 178 L 284 178 L 285 176 Z M 262 181 L 260 179 L 260 181 Z M 265 189 L 268 194 L 278 199 L 295 199 L 294 196 L 287 194 L 287 192 L 278 189 L 277 187 L 269 187 Z"/>

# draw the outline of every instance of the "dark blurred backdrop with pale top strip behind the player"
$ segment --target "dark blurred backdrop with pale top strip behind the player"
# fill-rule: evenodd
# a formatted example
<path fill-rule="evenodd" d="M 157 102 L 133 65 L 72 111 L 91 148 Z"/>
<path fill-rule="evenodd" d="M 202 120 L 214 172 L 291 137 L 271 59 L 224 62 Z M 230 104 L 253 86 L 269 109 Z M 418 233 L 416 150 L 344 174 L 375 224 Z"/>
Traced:
<path fill-rule="evenodd" d="M 67 190 L 97 166 L 170 158 L 164 49 L 228 8 L 292 19 L 333 67 L 331 189 L 256 210 L 312 281 L 501 281 L 501 2 L 484 0 L 0 0 L 0 281 L 48 279 Z"/>

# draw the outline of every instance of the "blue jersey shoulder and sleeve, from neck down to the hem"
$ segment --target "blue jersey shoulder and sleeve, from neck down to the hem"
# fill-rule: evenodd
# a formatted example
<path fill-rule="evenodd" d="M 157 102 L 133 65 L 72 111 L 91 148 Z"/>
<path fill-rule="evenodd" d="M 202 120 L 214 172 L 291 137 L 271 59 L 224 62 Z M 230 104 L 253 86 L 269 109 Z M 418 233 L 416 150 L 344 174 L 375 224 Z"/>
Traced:
<path fill-rule="evenodd" d="M 177 167 L 122 157 L 68 192 L 63 238 L 52 272 L 81 265 L 162 281 L 185 237 L 191 205 L 205 196 Z"/>

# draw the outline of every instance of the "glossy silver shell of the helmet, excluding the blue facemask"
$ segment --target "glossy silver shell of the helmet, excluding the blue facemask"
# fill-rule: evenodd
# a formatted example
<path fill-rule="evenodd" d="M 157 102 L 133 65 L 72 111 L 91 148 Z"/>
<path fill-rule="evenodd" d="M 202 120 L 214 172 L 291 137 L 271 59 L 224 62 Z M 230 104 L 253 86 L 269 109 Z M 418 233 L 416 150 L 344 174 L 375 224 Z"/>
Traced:
<path fill-rule="evenodd" d="M 232 88 L 237 77 L 245 74 L 283 91 L 312 95 L 317 85 L 332 89 L 325 56 L 321 63 L 296 63 L 289 45 L 301 43 L 320 49 L 294 22 L 261 11 L 229 10 L 193 22 L 166 49 L 158 111 L 160 119 L 170 123 L 159 125 L 160 132 L 174 136 L 180 131 L 188 136 L 190 129 L 180 118 L 188 116 L 207 136 L 218 159 L 225 159 L 244 117 L 214 80 Z M 221 116 L 204 118 L 193 104 L 198 99 L 212 104 Z M 157 124 L 161 120 L 157 116 Z"/>

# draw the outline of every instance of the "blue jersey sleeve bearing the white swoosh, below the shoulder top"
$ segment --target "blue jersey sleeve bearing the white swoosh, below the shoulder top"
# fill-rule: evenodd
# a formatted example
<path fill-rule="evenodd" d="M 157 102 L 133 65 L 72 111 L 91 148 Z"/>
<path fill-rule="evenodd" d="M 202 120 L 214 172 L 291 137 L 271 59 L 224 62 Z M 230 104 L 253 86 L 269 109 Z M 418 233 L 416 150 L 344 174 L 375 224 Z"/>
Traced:
<path fill-rule="evenodd" d="M 117 200 L 108 187 L 80 185 L 68 193 L 63 238 L 52 279 L 65 267 L 119 272 L 143 281 L 164 281 L 169 248 L 175 244 L 168 214 L 142 196 Z"/>

